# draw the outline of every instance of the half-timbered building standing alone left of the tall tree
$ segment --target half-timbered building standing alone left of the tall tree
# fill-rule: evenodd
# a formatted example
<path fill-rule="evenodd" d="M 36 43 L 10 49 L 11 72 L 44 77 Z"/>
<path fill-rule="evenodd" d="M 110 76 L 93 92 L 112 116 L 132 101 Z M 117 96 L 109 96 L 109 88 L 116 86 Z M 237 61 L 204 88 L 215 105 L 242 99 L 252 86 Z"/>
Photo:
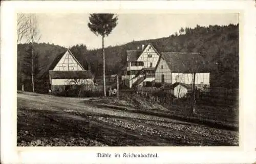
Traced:
<path fill-rule="evenodd" d="M 90 71 L 84 70 L 70 50 L 59 54 L 49 68 L 50 90 L 60 92 L 74 85 L 94 85 Z"/>

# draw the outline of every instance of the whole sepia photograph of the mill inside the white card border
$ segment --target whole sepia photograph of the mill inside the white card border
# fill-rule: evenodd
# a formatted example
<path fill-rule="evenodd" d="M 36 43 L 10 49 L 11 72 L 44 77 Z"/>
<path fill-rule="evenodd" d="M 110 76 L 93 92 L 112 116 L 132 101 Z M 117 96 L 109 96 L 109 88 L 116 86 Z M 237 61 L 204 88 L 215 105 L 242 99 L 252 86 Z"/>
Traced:
<path fill-rule="evenodd" d="M 17 146 L 240 146 L 239 13 L 17 13 Z"/>

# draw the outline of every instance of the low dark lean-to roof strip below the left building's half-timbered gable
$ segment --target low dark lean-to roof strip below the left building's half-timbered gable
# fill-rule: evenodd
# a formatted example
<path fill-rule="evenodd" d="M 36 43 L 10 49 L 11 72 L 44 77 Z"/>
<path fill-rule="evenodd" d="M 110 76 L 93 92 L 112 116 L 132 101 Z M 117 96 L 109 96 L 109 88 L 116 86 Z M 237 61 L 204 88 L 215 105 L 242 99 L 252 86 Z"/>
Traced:
<path fill-rule="evenodd" d="M 49 71 L 51 79 L 91 79 L 90 71 Z"/>

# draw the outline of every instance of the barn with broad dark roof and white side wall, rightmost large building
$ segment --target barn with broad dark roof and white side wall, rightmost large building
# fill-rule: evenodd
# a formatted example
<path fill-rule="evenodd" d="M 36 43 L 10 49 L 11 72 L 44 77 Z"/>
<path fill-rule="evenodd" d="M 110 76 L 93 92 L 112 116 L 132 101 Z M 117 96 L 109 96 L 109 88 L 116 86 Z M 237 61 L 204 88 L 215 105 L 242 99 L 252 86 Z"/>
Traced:
<path fill-rule="evenodd" d="M 182 89 L 184 96 L 193 84 L 194 72 L 196 87 L 203 89 L 210 86 L 209 69 L 199 53 L 161 53 L 156 66 L 155 82 L 175 84 L 173 85 L 175 96 L 181 96 L 177 94 L 178 87 Z"/>

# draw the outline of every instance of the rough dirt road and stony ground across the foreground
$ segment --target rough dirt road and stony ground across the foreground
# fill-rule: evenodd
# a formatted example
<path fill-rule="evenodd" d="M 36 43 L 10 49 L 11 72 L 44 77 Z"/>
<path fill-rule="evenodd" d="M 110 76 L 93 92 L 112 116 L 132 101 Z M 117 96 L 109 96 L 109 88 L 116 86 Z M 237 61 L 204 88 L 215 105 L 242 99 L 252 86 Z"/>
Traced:
<path fill-rule="evenodd" d="M 18 93 L 18 146 L 238 146 L 236 131 L 99 108 L 85 100 Z"/>

